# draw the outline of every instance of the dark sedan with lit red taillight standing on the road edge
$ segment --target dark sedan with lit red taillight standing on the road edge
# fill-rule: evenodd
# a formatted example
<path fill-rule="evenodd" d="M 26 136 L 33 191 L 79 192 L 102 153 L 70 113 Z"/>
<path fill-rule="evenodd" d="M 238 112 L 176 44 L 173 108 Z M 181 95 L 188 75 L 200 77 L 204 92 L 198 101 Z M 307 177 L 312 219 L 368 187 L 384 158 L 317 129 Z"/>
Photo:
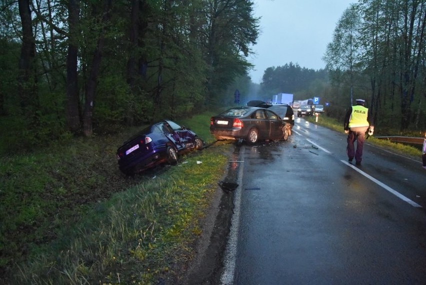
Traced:
<path fill-rule="evenodd" d="M 284 122 L 274 112 L 257 107 L 234 107 L 210 118 L 210 133 L 217 139 L 243 139 L 250 144 L 258 140 L 283 139 Z"/>

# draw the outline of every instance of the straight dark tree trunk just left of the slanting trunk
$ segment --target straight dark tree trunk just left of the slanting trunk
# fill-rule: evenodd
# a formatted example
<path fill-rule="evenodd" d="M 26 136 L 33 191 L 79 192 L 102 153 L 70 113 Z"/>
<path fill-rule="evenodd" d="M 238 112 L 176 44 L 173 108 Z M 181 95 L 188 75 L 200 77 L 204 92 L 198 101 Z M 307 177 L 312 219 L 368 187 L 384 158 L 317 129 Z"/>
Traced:
<path fill-rule="evenodd" d="M 72 133 L 80 129 L 78 108 L 78 74 L 77 74 L 77 35 L 79 22 L 79 0 L 69 0 L 68 3 L 68 52 L 66 55 L 66 123 Z"/>

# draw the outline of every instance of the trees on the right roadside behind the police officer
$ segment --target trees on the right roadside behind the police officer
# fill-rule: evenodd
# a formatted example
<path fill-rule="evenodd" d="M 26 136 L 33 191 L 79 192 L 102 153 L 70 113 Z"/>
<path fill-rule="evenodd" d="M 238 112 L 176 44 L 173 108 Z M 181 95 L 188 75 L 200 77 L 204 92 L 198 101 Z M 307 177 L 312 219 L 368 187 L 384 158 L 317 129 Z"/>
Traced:
<path fill-rule="evenodd" d="M 347 8 L 324 55 L 335 90 L 346 92 L 335 102 L 362 97 L 376 124 L 424 130 L 425 32 L 424 0 L 359 0 Z"/>

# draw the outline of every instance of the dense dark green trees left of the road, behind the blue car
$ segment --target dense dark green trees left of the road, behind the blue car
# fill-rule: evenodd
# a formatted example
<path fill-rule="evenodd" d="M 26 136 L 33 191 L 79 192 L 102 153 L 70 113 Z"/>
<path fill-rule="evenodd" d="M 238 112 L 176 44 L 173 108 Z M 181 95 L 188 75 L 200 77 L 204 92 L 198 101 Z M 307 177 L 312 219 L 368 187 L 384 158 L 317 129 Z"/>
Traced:
<path fill-rule="evenodd" d="M 249 0 L 0 0 L 0 10 L 1 132 L 21 147 L 222 102 L 258 36 Z"/>

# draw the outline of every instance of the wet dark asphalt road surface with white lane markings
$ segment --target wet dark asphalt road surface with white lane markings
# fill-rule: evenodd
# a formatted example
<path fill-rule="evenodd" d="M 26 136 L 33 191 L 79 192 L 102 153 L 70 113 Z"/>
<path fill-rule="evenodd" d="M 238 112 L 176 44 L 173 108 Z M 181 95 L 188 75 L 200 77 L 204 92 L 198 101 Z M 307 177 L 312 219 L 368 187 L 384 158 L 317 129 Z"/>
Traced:
<path fill-rule="evenodd" d="M 241 145 L 222 284 L 426 284 L 426 170 L 296 119 L 287 142 Z"/>

